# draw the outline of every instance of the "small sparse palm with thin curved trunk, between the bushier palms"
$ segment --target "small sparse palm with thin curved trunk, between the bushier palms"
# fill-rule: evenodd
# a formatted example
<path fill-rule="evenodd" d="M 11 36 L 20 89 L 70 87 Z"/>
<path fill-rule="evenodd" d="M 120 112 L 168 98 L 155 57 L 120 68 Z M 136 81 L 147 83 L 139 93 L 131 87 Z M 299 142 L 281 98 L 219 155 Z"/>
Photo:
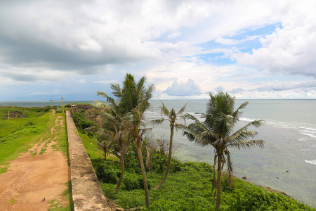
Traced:
<path fill-rule="evenodd" d="M 160 101 L 160 102 L 162 102 L 162 101 Z M 187 106 L 187 103 L 185 103 L 185 105 L 176 113 L 176 110 L 174 110 L 173 108 L 171 109 L 171 111 L 169 111 L 168 108 L 166 108 L 166 106 L 162 102 L 161 115 L 162 114 L 167 115 L 169 117 L 169 119 L 159 119 L 159 120 L 152 120 L 151 121 L 154 124 L 160 124 L 160 123 L 162 123 L 164 121 L 169 121 L 170 122 L 169 155 L 168 155 L 168 163 L 167 163 L 167 167 L 166 167 L 166 172 L 164 173 L 164 177 L 162 177 L 162 180 L 159 182 L 159 184 L 157 184 L 157 186 L 154 187 L 154 189 L 161 188 L 162 185 L 164 184 L 164 181 L 166 180 L 166 177 L 168 176 L 169 169 L 170 169 L 170 164 L 171 164 L 171 156 L 172 156 L 173 131 L 174 131 L 174 127 L 178 125 L 178 124 L 176 124 L 177 115 L 183 113 L 183 111 L 185 110 L 185 106 Z"/>

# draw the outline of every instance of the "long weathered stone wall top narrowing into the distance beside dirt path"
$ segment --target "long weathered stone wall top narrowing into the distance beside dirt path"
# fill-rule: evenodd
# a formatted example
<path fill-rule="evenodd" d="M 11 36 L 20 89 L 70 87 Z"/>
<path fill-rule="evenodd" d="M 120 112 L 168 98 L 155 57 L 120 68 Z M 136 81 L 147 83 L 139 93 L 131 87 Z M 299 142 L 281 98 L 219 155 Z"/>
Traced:
<path fill-rule="evenodd" d="M 110 211 L 77 128 L 68 111 L 66 115 L 74 211 Z"/>

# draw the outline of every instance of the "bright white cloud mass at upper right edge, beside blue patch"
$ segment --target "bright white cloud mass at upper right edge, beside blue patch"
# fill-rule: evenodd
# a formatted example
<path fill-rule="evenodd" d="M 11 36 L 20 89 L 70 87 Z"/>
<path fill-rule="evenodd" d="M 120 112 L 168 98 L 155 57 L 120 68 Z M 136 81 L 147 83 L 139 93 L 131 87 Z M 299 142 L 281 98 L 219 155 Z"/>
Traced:
<path fill-rule="evenodd" d="M 316 1 L 295 1 L 282 27 L 261 38 L 262 47 L 237 53 L 239 62 L 259 70 L 316 77 Z"/>

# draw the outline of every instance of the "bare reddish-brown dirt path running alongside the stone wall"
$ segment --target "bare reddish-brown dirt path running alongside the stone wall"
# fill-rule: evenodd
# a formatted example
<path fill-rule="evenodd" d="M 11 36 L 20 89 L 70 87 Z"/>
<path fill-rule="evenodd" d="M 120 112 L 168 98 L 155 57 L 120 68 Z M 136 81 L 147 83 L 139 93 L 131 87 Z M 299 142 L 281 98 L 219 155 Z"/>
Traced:
<path fill-rule="evenodd" d="M 54 131 L 58 125 L 64 127 L 61 116 L 55 120 L 48 139 L 42 138 L 27 153 L 11 161 L 8 172 L 0 174 L 0 210 L 48 210 L 51 200 L 69 203 L 67 197 L 61 196 L 69 181 L 67 158 L 52 147 L 57 144 Z"/>

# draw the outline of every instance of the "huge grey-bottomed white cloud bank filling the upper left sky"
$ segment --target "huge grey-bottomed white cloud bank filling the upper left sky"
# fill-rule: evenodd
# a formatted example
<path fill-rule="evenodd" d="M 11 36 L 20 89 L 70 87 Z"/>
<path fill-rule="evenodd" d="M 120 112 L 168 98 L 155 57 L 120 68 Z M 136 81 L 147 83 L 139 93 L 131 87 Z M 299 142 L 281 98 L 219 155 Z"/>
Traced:
<path fill-rule="evenodd" d="M 206 1 L 14 1 L 1 3 L 0 60 L 15 66 L 96 72 L 159 60 L 179 44 L 159 41 L 206 15 Z M 169 32 L 171 33 L 169 34 Z M 168 55 L 167 57 L 170 57 Z"/>

